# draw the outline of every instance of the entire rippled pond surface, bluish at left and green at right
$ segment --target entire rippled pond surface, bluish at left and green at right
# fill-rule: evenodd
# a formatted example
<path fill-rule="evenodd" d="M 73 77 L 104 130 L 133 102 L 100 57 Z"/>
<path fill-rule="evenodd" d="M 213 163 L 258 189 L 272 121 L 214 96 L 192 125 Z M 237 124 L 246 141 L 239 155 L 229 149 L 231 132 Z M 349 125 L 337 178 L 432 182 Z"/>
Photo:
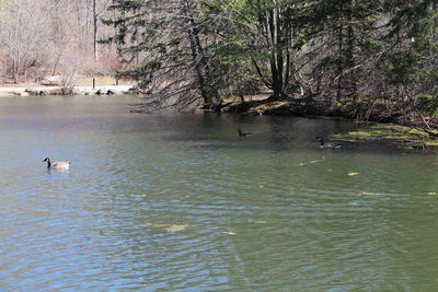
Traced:
<path fill-rule="evenodd" d="M 1 291 L 438 287 L 436 153 L 320 149 L 345 121 L 136 102 L 0 98 Z"/>

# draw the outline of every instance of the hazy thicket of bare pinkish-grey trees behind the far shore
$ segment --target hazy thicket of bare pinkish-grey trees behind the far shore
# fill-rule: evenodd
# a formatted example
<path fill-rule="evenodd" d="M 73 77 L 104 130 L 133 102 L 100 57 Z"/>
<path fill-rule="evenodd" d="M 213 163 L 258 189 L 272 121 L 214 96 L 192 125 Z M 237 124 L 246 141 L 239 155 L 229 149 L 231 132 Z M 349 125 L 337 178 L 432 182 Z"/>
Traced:
<path fill-rule="evenodd" d="M 111 0 L 3 0 L 0 2 L 0 44 L 7 66 L 3 72 L 15 83 L 30 75 L 96 72 L 104 65 L 92 62 L 93 17 L 106 12 Z M 101 25 L 102 26 L 102 25 Z M 104 30 L 105 28 L 105 30 Z M 106 26 L 100 27 L 105 34 Z M 103 51 L 106 48 L 100 48 Z"/>

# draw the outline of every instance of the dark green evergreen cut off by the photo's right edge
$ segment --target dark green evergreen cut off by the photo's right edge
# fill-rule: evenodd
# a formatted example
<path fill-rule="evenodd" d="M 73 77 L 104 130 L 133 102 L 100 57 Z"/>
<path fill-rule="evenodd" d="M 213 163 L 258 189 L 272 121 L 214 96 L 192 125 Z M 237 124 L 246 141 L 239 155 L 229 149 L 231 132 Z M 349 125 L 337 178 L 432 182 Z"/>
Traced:
<path fill-rule="evenodd" d="M 394 16 L 389 23 L 388 80 L 396 86 L 403 104 L 414 104 L 424 126 L 424 115 L 436 115 L 438 104 L 438 1 L 390 2 Z"/>

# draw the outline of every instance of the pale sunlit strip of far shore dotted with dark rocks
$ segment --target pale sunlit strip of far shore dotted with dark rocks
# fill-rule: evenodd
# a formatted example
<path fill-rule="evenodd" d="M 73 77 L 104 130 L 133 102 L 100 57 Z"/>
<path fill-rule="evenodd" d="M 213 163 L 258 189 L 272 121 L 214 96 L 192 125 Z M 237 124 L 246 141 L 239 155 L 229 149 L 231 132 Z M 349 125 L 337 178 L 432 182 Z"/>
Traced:
<path fill-rule="evenodd" d="M 38 96 L 38 95 L 101 95 L 101 94 L 135 94 L 135 85 L 100 85 L 100 86 L 0 86 L 0 97 Z"/>

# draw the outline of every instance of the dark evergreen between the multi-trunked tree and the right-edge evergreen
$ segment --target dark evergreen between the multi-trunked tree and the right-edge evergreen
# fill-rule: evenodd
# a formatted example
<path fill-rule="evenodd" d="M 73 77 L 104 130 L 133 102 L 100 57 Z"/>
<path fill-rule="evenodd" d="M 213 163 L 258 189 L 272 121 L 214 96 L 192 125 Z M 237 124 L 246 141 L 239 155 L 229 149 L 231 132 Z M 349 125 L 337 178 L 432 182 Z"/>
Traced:
<path fill-rule="evenodd" d="M 308 10 L 315 62 L 309 72 L 318 93 L 337 102 L 369 94 L 370 71 L 379 58 L 379 1 L 321 0 Z M 316 54 L 315 54 L 316 51 Z"/>

